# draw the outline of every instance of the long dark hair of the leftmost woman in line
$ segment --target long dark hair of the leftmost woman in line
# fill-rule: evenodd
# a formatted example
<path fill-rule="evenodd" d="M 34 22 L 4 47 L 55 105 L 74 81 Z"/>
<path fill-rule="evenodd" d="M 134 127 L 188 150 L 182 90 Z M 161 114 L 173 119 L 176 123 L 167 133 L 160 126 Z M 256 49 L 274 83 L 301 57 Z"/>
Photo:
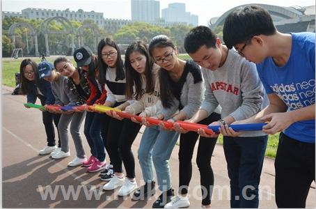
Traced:
<path fill-rule="evenodd" d="M 24 76 L 24 68 L 26 67 L 26 65 L 31 65 L 34 71 L 34 77 L 35 80 L 34 81 L 29 81 L 28 79 L 26 79 L 26 77 Z M 19 65 L 19 75 L 21 77 L 21 93 L 22 94 L 27 94 L 29 93 L 29 91 L 31 91 L 31 89 L 28 88 L 28 84 L 31 82 L 37 83 L 38 81 L 38 64 L 35 63 L 35 61 L 31 60 L 31 59 L 24 59 L 21 63 L 21 65 Z"/>

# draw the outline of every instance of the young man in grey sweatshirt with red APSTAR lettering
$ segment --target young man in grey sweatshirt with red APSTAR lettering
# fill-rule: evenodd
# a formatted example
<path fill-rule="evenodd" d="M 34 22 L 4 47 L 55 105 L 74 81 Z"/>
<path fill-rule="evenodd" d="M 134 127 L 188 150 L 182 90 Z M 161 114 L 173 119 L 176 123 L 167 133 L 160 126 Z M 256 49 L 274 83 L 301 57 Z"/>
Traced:
<path fill-rule="evenodd" d="M 197 26 L 189 31 L 184 48 L 203 67 L 206 88 L 205 100 L 191 122 L 207 118 L 219 104 L 221 120 L 212 124 L 225 129 L 224 126 L 250 118 L 262 109 L 264 89 L 255 64 L 228 50 L 208 27 Z M 207 137 L 203 130 L 199 133 Z M 261 131 L 246 132 L 239 137 L 224 136 L 232 208 L 258 208 L 258 186 L 266 146 L 267 134 Z"/>

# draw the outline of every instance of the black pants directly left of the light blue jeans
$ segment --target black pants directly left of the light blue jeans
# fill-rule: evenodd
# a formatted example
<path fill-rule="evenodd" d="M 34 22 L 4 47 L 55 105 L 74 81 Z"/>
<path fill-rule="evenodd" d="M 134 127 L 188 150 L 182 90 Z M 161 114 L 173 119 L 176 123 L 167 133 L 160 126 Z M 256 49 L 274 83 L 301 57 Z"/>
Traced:
<path fill-rule="evenodd" d="M 122 121 L 111 118 L 106 135 L 106 151 L 109 153 L 113 170 L 123 173 L 122 162 L 127 178 L 135 178 L 135 160 L 132 144 L 139 133 L 141 125 L 129 119 Z"/>

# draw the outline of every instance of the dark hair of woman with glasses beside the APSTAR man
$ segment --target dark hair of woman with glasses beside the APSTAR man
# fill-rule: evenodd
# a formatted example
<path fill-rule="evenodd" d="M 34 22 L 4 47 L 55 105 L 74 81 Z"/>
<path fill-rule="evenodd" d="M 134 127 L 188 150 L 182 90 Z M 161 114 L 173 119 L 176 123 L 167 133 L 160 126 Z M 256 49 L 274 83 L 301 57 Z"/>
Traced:
<path fill-rule="evenodd" d="M 172 47 L 175 49 L 175 45 L 168 36 L 159 35 L 152 38 L 149 43 L 148 50 L 150 56 L 155 48 Z M 165 108 L 171 107 L 173 104 L 173 93 L 171 92 L 171 86 L 169 84 L 169 74 L 164 68 L 159 70 L 159 84 L 160 84 L 160 100 L 162 106 Z"/>

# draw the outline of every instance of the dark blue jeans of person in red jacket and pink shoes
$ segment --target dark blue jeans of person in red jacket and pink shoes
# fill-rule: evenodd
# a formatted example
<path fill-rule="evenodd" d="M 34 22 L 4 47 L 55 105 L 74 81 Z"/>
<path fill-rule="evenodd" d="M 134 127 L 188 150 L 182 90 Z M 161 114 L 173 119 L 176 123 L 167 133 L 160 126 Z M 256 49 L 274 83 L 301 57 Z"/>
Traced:
<path fill-rule="evenodd" d="M 105 159 L 104 134 L 102 133 L 102 119 L 104 114 L 87 111 L 84 122 L 84 134 L 90 146 L 90 153 L 103 162 Z"/>

